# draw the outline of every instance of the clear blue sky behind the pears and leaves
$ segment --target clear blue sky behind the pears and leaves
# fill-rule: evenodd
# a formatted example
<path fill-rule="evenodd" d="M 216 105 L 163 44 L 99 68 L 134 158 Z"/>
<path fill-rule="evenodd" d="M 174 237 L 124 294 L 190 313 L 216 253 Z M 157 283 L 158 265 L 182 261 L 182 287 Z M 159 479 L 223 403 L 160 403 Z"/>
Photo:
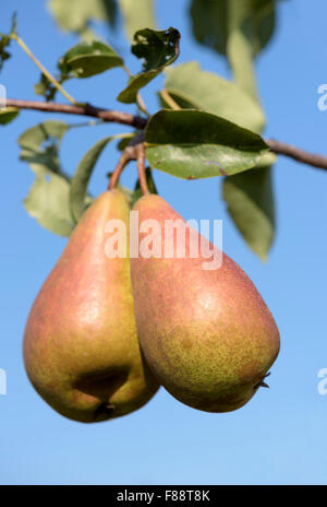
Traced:
<path fill-rule="evenodd" d="M 327 4 L 280 3 L 278 31 L 257 62 L 266 133 L 327 154 L 327 111 L 316 106 L 317 87 L 327 82 Z M 226 62 L 192 39 L 187 4 L 189 0 L 158 0 L 159 26 L 181 31 L 181 62 L 198 59 L 204 69 L 228 76 Z M 1 2 L 0 9 L 0 31 L 8 30 L 12 11 L 17 10 L 20 35 L 50 69 L 75 43 L 57 30 L 45 1 L 12 0 Z M 137 61 L 124 38 L 111 39 L 136 71 Z M 33 98 L 37 79 L 34 64 L 14 48 L 14 58 L 0 75 L 8 95 Z M 123 72 L 113 70 L 92 81 L 72 80 L 66 89 L 81 101 L 112 107 L 122 80 Z M 160 79 L 150 91 L 159 84 Z M 144 95 L 155 110 L 155 97 Z M 0 132 L 0 368 L 8 374 L 8 394 L 0 396 L 0 483 L 327 484 L 327 396 L 317 391 L 317 373 L 327 368 L 327 174 L 279 158 L 274 170 L 277 235 L 269 262 L 263 264 L 229 220 L 218 178 L 185 182 L 156 172 L 160 193 L 185 219 L 223 219 L 225 249 L 270 307 L 281 333 L 281 352 L 269 377 L 270 389 L 262 389 L 237 412 L 195 411 L 161 389 L 138 412 L 83 425 L 58 415 L 35 393 L 22 362 L 31 305 L 66 243 L 41 228 L 22 204 L 33 176 L 17 160 L 16 139 L 49 117 L 28 111 Z M 97 139 L 121 131 L 121 126 L 76 129 L 63 142 L 64 168 L 72 173 Z M 92 180 L 94 194 L 104 190 L 105 174 L 116 161 L 117 152 L 108 148 Z M 132 185 L 132 168 L 123 181 Z"/>

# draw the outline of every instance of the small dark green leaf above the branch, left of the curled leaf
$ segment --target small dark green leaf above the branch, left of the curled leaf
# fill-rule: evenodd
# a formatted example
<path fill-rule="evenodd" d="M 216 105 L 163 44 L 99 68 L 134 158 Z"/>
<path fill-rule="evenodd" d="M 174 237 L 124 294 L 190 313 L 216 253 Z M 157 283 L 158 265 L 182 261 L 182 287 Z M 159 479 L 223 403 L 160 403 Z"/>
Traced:
<path fill-rule="evenodd" d="M 99 40 L 77 44 L 59 60 L 59 69 L 65 79 L 89 78 L 122 64 L 122 58 Z"/>

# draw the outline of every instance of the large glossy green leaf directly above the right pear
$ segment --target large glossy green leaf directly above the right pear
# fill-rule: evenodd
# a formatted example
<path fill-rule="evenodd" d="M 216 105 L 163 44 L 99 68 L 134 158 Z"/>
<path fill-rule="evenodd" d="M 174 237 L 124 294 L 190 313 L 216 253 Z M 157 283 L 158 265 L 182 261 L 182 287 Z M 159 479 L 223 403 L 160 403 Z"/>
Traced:
<path fill-rule="evenodd" d="M 160 110 L 145 139 L 149 164 L 184 179 L 241 173 L 267 150 L 258 134 L 199 110 Z"/>

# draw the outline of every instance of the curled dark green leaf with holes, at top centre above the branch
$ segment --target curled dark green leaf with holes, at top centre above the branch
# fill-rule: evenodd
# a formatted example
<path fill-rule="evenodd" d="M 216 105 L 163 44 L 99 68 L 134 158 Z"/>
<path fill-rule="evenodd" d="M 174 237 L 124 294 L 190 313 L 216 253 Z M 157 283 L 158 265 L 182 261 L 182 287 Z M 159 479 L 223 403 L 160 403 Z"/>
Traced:
<path fill-rule="evenodd" d="M 166 31 L 140 30 L 134 35 L 132 52 L 144 60 L 140 74 L 130 79 L 128 86 L 119 94 L 118 101 L 125 104 L 136 102 L 138 90 L 146 86 L 179 56 L 181 35 L 175 28 Z"/>

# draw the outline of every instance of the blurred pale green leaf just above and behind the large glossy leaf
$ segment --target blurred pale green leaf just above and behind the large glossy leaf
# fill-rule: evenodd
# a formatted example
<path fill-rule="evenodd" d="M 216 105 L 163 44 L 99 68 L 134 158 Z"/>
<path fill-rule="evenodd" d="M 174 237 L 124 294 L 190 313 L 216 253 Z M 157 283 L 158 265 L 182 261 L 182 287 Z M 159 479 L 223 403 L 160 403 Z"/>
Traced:
<path fill-rule="evenodd" d="M 165 90 L 180 107 L 213 113 L 255 132 L 264 128 L 265 117 L 255 101 L 237 84 L 201 70 L 197 62 L 167 69 L 166 75 Z"/>

